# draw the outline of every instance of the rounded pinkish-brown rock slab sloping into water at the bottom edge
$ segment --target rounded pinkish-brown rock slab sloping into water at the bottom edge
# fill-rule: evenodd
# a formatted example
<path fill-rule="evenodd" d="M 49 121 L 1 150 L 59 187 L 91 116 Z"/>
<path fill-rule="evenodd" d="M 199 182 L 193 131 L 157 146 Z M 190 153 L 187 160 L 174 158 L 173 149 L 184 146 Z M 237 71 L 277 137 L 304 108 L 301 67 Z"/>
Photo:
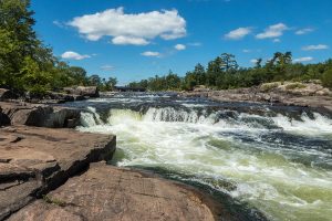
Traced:
<path fill-rule="evenodd" d="M 37 200 L 11 221 L 46 220 L 235 220 L 211 198 L 194 188 L 152 175 L 92 164 L 43 200 Z"/>

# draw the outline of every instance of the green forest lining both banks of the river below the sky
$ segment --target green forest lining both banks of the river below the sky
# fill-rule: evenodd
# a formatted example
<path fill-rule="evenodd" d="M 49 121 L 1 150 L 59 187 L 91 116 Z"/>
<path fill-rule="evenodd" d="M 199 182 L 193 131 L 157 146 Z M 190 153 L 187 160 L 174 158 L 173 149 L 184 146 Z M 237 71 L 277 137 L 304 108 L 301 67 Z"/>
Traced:
<path fill-rule="evenodd" d="M 0 87 L 17 93 L 44 94 L 65 86 L 98 86 L 112 91 L 117 80 L 89 75 L 83 67 L 71 66 L 53 55 L 52 49 L 38 39 L 30 0 L 0 0 Z M 274 81 L 320 80 L 332 87 L 332 60 L 317 64 L 292 62 L 291 52 L 276 52 L 271 60 L 258 59 L 253 67 L 239 67 L 235 55 L 222 53 L 205 67 L 197 64 L 185 76 L 172 71 L 127 86 L 148 91 L 190 91 L 205 85 L 215 90 L 250 87 Z"/>

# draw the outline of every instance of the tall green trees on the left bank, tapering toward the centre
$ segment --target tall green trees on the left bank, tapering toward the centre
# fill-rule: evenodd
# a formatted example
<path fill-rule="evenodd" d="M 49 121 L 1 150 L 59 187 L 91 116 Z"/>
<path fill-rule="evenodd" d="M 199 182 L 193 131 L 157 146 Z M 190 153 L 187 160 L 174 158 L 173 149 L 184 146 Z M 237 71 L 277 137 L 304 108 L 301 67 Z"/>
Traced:
<path fill-rule="evenodd" d="M 112 90 L 116 78 L 87 76 L 80 66 L 59 61 L 38 39 L 30 0 L 0 0 L 0 87 L 17 93 L 44 94 L 65 86 Z"/>

